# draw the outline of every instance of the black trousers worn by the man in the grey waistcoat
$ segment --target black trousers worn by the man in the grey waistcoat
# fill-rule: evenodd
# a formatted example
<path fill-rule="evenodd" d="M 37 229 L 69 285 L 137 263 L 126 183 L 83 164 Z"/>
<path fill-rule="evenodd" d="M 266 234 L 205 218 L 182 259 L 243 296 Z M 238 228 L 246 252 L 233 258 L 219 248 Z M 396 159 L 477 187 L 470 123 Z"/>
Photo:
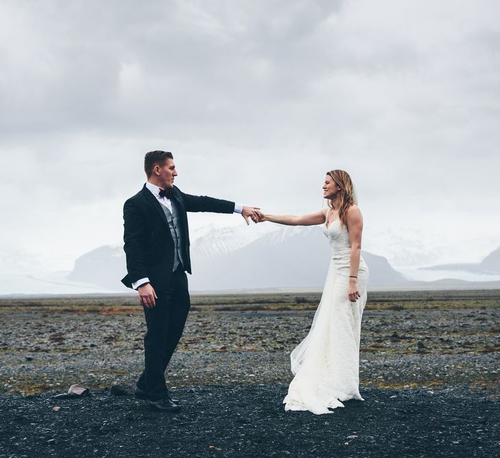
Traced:
<path fill-rule="evenodd" d="M 187 275 L 178 269 L 173 273 L 166 288 L 154 290 L 158 299 L 156 307 L 144 308 L 147 332 L 144 336 L 144 370 L 137 387 L 148 398 L 165 397 L 165 369 L 176 350 L 184 330 L 191 302 L 187 290 Z"/>

